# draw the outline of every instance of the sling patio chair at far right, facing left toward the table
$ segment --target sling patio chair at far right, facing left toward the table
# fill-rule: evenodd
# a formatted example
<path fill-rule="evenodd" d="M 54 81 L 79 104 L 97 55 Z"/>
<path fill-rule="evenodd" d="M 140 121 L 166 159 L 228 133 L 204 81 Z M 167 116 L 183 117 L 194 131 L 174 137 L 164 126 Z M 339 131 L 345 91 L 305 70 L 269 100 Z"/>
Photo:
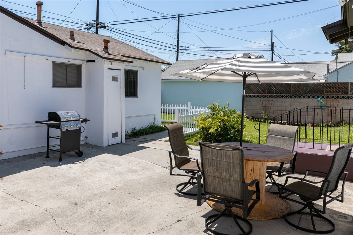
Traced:
<path fill-rule="evenodd" d="M 309 233 L 324 234 L 324 233 L 332 233 L 333 231 L 335 231 L 335 224 L 332 221 L 330 221 L 330 219 L 324 217 L 322 214 L 326 213 L 326 205 L 329 204 L 330 202 L 337 200 L 343 203 L 343 192 L 344 192 L 345 182 L 348 174 L 348 172 L 345 172 L 345 169 L 348 165 L 348 161 L 352 153 L 352 148 L 353 148 L 353 143 L 348 143 L 344 146 L 337 148 L 333 155 L 332 163 L 328 172 L 307 170 L 303 179 L 298 177 L 291 177 L 291 176 L 286 177 L 285 183 L 279 189 L 279 193 L 280 193 L 279 197 L 304 206 L 303 208 L 297 211 L 289 212 L 288 214 L 285 215 L 285 221 L 288 224 L 290 224 L 294 228 L 297 228 Z M 325 179 L 319 182 L 310 181 L 305 179 L 309 172 L 323 173 L 326 175 L 326 177 Z M 342 174 L 344 174 L 344 177 L 343 177 L 341 192 L 336 196 L 332 196 L 332 194 L 337 190 L 339 186 L 339 181 L 341 179 Z M 288 179 L 297 179 L 299 181 L 295 181 L 294 183 L 287 185 Z M 321 184 L 321 185 L 317 186 L 318 184 Z M 286 192 L 285 195 L 283 195 L 284 192 Z M 292 194 L 298 195 L 300 200 L 289 198 L 289 196 L 291 196 Z M 314 206 L 315 204 L 313 203 L 313 201 L 317 201 L 319 199 L 323 199 L 322 210 L 315 208 Z M 309 213 L 304 212 L 306 208 L 309 209 L 310 211 Z M 300 222 L 294 223 L 289 221 L 288 217 L 295 214 L 301 214 L 301 215 L 310 214 L 312 229 L 308 228 L 307 226 L 306 227 L 299 226 Z M 323 222 L 326 221 L 327 223 L 325 224 L 329 227 L 329 229 L 325 229 L 325 227 L 327 228 L 327 226 L 323 224 L 315 226 L 314 217 L 321 219 L 321 221 Z M 301 216 L 300 220 L 305 220 L 305 219 L 303 216 Z M 316 222 L 318 221 L 319 220 L 317 220 Z M 322 229 L 323 227 L 325 230 Z"/>

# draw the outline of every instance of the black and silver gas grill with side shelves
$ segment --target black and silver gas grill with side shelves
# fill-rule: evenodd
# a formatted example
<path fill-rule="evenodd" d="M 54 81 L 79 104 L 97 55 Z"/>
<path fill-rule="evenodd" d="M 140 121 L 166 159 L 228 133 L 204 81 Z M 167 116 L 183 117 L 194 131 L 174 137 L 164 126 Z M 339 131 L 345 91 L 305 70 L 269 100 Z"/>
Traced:
<path fill-rule="evenodd" d="M 48 112 L 48 120 L 37 121 L 36 123 L 47 125 L 47 156 L 49 158 L 49 150 L 60 153 L 59 162 L 62 161 L 61 155 L 66 152 L 76 151 L 77 156 L 82 157 L 83 152 L 80 150 L 81 140 L 81 128 L 83 122 L 88 122 L 89 119 L 80 118 L 80 115 L 76 111 L 57 111 Z M 59 136 L 50 136 L 50 128 L 60 129 Z M 49 148 L 49 140 L 54 138 L 60 140 L 60 144 L 54 147 L 59 149 Z"/>

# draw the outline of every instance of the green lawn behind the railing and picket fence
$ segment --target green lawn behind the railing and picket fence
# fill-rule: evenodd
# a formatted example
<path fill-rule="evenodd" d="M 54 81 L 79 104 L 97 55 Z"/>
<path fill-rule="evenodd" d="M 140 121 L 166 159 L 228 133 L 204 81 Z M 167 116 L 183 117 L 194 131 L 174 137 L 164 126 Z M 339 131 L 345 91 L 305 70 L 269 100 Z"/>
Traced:
<path fill-rule="evenodd" d="M 257 122 L 252 122 L 249 120 L 245 120 L 245 129 L 244 129 L 244 134 L 243 134 L 243 142 L 247 143 L 258 143 L 258 130 L 254 128 L 254 125 Z M 268 124 L 268 127 L 270 124 Z M 258 124 L 256 125 L 258 128 Z M 266 143 L 266 136 L 267 136 L 267 124 L 266 123 L 261 123 L 261 136 L 260 136 L 260 143 L 265 144 Z M 341 132 L 340 132 L 340 127 L 306 127 L 307 128 L 307 136 L 305 139 L 305 126 L 300 126 L 300 141 L 301 142 L 313 142 L 313 131 L 314 131 L 314 139 L 315 143 L 331 143 L 332 144 L 338 144 L 338 140 L 341 139 L 341 141 L 348 141 L 348 125 L 341 127 Z M 335 132 L 336 131 L 336 132 Z M 349 142 L 353 142 L 353 125 L 351 125 L 351 128 L 349 130 L 350 133 L 350 138 Z M 323 138 L 321 138 L 321 136 Z M 323 139 L 323 141 L 321 140 Z M 197 133 L 191 134 L 191 135 L 185 135 L 185 140 L 186 143 L 189 145 L 197 145 L 198 136 Z"/>

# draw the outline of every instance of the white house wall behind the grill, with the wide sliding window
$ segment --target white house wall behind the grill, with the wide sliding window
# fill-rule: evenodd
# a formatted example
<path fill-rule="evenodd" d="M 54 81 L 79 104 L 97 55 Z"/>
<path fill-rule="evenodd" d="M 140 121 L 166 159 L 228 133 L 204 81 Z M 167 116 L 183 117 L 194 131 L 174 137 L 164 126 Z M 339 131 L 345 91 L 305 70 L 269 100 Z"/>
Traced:
<path fill-rule="evenodd" d="M 86 116 L 85 62 L 79 62 L 82 88 L 53 88 L 53 61 L 5 56 L 5 51 L 82 61 L 86 54 L 70 52 L 4 14 L 0 22 L 0 159 L 5 159 L 46 150 L 47 127 L 35 121 L 46 120 L 48 112 L 75 110 Z"/>

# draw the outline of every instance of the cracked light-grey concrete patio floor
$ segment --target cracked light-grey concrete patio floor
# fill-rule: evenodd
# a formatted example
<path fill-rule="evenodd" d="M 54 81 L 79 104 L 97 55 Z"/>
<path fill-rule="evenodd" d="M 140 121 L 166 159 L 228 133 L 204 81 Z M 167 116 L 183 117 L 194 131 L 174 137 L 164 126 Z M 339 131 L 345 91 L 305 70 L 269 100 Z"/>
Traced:
<path fill-rule="evenodd" d="M 186 178 L 169 175 L 167 136 L 84 144 L 82 157 L 67 153 L 62 162 L 54 152 L 49 159 L 37 153 L 1 160 L 0 234 L 210 234 L 204 219 L 215 211 L 175 191 Z M 332 234 L 353 233 L 353 183 L 346 183 L 345 202 L 330 203 L 325 216 L 336 224 Z M 283 218 L 251 223 L 254 235 L 308 234 Z"/>

